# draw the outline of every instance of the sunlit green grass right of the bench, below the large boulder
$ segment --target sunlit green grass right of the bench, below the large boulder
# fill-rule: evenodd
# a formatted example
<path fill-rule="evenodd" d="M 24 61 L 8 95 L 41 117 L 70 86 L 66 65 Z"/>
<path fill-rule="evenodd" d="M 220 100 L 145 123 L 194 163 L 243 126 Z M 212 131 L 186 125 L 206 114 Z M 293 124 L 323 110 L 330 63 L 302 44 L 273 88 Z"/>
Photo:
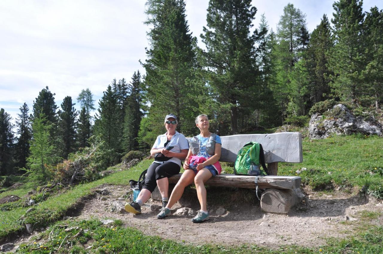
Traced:
<path fill-rule="evenodd" d="M 383 139 L 377 136 L 334 136 L 322 140 L 304 138 L 302 163 L 279 163 L 278 175 L 297 175 L 302 182 L 320 188 L 326 184 L 340 187 L 383 185 Z"/>

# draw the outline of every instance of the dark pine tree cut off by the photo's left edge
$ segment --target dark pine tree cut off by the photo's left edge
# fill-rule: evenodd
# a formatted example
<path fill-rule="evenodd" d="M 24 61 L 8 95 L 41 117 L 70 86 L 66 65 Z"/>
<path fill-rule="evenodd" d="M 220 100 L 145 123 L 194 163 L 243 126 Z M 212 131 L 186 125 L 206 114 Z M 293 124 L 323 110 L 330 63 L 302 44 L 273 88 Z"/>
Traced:
<path fill-rule="evenodd" d="M 12 173 L 13 161 L 13 124 L 10 114 L 0 109 L 0 175 Z"/>

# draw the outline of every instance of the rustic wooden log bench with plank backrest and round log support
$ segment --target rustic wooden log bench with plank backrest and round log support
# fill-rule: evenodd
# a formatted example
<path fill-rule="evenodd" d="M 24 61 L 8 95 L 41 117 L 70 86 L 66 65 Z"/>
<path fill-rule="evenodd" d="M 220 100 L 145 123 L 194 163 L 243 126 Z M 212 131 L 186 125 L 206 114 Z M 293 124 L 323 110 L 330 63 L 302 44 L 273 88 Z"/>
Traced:
<path fill-rule="evenodd" d="M 303 161 L 302 136 L 299 132 L 231 135 L 223 136 L 221 140 L 222 151 L 219 159 L 221 162 L 235 162 L 238 151 L 250 141 L 262 144 L 269 173 L 268 176 L 258 178 L 259 188 L 266 189 L 260 198 L 260 205 L 264 212 L 288 213 L 291 207 L 303 199 L 304 195 L 300 190 L 301 177 L 277 176 L 278 163 Z M 169 184 L 176 184 L 181 175 L 170 177 Z M 254 180 L 254 176 L 221 174 L 210 178 L 206 184 L 255 189 Z M 154 198 L 153 194 L 152 198 Z"/>

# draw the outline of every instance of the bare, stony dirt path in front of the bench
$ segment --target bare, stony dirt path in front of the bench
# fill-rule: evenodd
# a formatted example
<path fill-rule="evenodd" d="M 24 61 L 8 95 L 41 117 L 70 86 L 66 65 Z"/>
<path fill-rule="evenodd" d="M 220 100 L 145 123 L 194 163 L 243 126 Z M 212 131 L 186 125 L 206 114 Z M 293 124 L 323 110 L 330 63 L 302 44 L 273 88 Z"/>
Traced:
<path fill-rule="evenodd" d="M 271 248 L 282 244 L 320 246 L 325 244 L 325 238 L 343 238 L 351 234 L 363 210 L 383 211 L 383 202 L 376 200 L 367 202 L 341 192 L 321 196 L 313 192 L 306 193 L 304 203 L 288 215 L 265 214 L 261 212 L 259 203 L 237 206 L 223 215 L 215 215 L 214 211 L 218 207 L 210 207 L 210 221 L 194 224 L 190 221 L 192 216 L 172 215 L 158 220 L 156 215 L 160 204 L 154 201 L 143 205 L 141 215 L 111 211 L 111 203 L 125 202 L 121 197 L 126 193 L 126 186 L 103 187 L 110 191 L 103 198 L 106 200 L 101 200 L 100 196 L 87 200 L 77 210 L 74 219 L 119 219 L 125 225 L 138 228 L 145 234 L 186 243 L 248 243 Z M 340 223 L 346 220 L 346 216 L 349 223 Z M 376 224 L 382 222 L 382 216 L 373 221 Z"/>

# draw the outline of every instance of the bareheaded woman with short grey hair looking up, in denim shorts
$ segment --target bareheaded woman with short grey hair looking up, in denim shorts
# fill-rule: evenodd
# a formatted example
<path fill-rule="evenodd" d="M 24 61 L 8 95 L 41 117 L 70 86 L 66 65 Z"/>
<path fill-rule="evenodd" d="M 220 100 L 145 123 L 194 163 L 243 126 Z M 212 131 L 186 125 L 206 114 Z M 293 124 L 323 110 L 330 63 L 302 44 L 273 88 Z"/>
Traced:
<path fill-rule="evenodd" d="M 206 115 L 197 116 L 195 124 L 201 133 L 189 141 L 190 149 L 183 164 L 185 172 L 174 187 L 168 204 L 161 208 L 161 212 L 157 215 L 159 219 L 170 215 L 170 208 L 181 198 L 185 187 L 194 182 L 201 209 L 191 221 L 201 223 L 209 220 L 205 182 L 221 173 L 222 168 L 218 160 L 221 157 L 222 142 L 218 135 L 209 132 L 209 119 Z"/>

